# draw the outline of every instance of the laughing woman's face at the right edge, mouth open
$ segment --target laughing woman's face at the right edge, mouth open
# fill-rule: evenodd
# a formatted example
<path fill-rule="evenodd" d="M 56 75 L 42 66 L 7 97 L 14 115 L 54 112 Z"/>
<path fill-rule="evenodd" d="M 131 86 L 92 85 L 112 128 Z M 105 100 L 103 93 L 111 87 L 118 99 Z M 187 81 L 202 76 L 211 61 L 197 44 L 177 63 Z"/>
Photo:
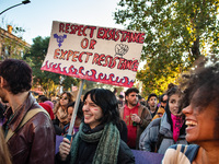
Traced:
<path fill-rule="evenodd" d="M 189 106 L 183 109 L 187 125 L 186 140 L 199 145 L 214 140 L 218 143 L 219 138 L 215 131 L 217 112 L 212 105 L 200 110 L 201 106 L 197 103 L 197 98 L 199 98 L 198 92 L 194 94 Z"/>

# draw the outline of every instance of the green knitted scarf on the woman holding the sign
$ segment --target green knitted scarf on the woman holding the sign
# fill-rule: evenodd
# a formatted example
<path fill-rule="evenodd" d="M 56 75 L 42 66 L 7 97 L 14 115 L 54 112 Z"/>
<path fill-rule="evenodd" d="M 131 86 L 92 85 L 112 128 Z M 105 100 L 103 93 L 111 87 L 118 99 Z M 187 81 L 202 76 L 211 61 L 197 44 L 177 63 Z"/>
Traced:
<path fill-rule="evenodd" d="M 85 142 L 100 140 L 92 164 L 116 164 L 120 143 L 120 136 L 116 126 L 110 122 L 104 126 L 103 130 L 90 134 L 83 132 L 83 126 L 84 122 L 81 122 L 79 131 L 71 143 L 70 163 L 73 164 L 76 162 L 80 140 Z"/>

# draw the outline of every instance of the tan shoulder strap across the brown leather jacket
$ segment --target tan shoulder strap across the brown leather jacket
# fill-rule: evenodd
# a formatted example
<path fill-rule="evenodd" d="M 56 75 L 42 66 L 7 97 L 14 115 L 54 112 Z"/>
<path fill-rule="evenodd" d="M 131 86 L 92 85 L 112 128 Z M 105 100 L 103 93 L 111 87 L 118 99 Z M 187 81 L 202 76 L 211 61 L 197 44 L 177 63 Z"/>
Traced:
<path fill-rule="evenodd" d="M 9 129 L 9 131 L 7 133 L 5 141 L 8 142 L 9 139 L 14 134 L 15 131 L 18 131 L 20 128 L 22 128 L 36 114 L 42 113 L 42 112 L 48 115 L 48 113 L 45 109 L 43 109 L 43 108 L 35 108 L 35 109 L 31 109 L 30 112 L 27 112 L 27 114 L 24 116 L 22 122 L 20 124 L 20 126 L 14 131 L 12 131 L 11 129 Z"/>

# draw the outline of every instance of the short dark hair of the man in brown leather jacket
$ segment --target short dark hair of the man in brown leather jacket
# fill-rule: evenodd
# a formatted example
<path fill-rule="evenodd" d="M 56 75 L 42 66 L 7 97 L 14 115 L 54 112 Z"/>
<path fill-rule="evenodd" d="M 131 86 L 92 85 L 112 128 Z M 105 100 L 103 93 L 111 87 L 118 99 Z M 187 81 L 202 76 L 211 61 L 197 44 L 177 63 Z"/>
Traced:
<path fill-rule="evenodd" d="M 23 60 L 5 59 L 0 63 L 0 75 L 7 81 L 4 89 L 13 94 L 32 87 L 32 69 Z"/>

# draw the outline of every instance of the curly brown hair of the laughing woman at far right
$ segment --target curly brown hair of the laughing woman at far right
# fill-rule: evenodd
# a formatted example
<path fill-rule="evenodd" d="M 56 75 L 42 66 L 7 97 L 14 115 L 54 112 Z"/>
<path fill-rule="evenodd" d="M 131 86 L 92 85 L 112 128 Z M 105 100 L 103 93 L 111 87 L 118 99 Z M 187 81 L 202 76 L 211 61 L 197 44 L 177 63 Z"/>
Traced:
<path fill-rule="evenodd" d="M 183 92 L 183 107 L 186 107 L 193 101 L 194 106 L 199 112 L 206 109 L 209 105 L 217 110 L 215 118 L 216 125 L 219 125 L 219 63 L 196 69 L 189 74 L 183 75 L 181 87 Z M 194 94 L 198 92 L 196 98 Z M 193 99 L 192 99 L 193 98 Z M 216 126 L 215 134 L 219 137 L 219 128 Z"/>

